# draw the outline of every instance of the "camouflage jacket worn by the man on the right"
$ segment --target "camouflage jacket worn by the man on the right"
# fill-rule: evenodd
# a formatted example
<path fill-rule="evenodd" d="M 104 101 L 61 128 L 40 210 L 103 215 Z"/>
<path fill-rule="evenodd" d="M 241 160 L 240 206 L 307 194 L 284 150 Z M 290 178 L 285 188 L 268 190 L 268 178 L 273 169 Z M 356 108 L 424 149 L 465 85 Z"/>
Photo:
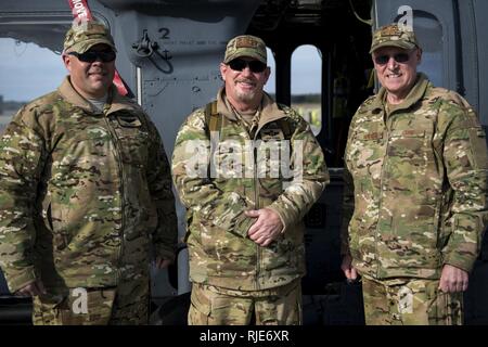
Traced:
<path fill-rule="evenodd" d="M 475 112 L 422 74 L 403 103 L 387 112 L 384 100 L 382 88 L 350 125 L 342 253 L 377 279 L 438 279 L 445 264 L 471 271 L 488 218 Z"/>

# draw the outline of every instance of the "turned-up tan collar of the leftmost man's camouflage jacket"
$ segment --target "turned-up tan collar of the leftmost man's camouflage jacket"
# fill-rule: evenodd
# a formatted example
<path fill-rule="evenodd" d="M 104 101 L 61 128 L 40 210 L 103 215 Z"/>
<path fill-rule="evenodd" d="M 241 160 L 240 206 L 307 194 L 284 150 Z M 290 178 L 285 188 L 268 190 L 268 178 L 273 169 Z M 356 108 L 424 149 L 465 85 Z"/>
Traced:
<path fill-rule="evenodd" d="M 57 88 L 57 92 L 61 97 L 66 100 L 68 103 L 82 108 L 89 113 L 98 114 L 100 113 L 88 100 L 81 97 L 73 87 L 69 76 L 66 76 Z M 120 110 L 130 110 L 137 111 L 138 107 L 131 103 L 126 97 L 120 95 L 117 92 L 117 89 L 114 85 L 112 85 L 108 89 L 108 98 L 107 98 L 108 110 L 104 110 L 105 116 L 108 116 L 111 113 L 120 111 Z"/>

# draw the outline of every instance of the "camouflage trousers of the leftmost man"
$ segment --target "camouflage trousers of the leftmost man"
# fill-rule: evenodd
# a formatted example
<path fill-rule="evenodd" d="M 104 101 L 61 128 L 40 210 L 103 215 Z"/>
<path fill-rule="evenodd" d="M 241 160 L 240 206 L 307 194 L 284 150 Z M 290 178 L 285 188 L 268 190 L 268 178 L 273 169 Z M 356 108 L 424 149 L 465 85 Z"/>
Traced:
<path fill-rule="evenodd" d="M 50 288 L 34 297 L 35 325 L 140 325 L 149 322 L 149 280 L 116 287 Z"/>

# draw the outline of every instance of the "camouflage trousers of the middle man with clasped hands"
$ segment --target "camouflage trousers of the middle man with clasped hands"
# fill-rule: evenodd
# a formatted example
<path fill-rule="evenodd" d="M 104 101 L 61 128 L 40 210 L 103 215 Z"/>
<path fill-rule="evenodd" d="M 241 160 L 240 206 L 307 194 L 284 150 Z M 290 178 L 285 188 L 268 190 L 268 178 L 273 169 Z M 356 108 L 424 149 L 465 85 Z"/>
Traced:
<path fill-rule="evenodd" d="M 189 325 L 300 325 L 301 284 L 233 291 L 193 283 Z"/>

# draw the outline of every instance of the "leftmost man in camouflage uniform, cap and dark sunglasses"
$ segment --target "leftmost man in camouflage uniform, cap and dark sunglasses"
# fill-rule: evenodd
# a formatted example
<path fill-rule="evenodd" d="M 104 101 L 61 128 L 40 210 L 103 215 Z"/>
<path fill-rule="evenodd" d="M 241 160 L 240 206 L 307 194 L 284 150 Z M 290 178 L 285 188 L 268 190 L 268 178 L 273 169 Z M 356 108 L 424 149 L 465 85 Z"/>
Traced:
<path fill-rule="evenodd" d="M 112 83 L 98 22 L 64 41 L 61 87 L 24 106 L 0 140 L 0 266 L 34 296 L 35 324 L 147 322 L 150 246 L 175 256 L 169 164 L 159 134 Z"/>

